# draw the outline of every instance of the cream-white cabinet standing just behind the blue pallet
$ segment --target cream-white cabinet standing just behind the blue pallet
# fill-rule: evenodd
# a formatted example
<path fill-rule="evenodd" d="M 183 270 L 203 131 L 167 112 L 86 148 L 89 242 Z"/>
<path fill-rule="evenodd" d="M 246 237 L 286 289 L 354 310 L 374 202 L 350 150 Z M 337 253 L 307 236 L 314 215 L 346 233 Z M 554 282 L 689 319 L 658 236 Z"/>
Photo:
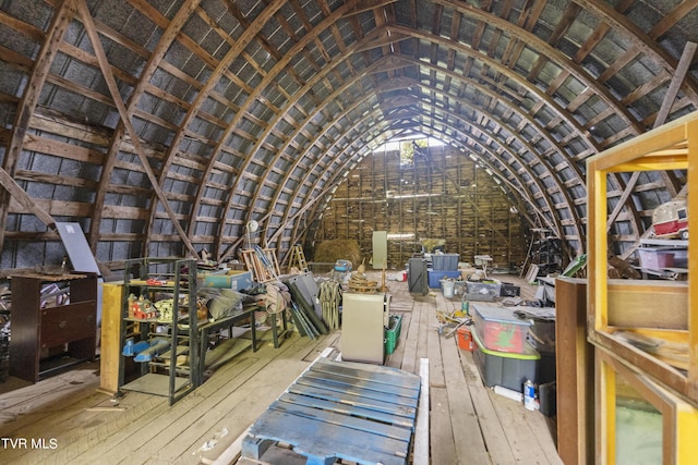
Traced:
<path fill-rule="evenodd" d="M 390 294 L 346 292 L 341 310 L 341 359 L 383 365 L 384 328 L 389 325 Z"/>

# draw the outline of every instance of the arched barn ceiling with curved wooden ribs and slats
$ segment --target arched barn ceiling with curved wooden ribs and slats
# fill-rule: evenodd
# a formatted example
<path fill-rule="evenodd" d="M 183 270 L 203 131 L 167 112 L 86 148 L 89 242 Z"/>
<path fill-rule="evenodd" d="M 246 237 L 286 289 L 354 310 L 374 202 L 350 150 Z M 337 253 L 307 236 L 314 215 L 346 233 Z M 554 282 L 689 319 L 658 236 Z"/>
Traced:
<path fill-rule="evenodd" d="M 253 219 L 288 250 L 362 158 L 418 135 L 581 253 L 586 159 L 696 110 L 697 5 L 1 1 L 2 268 L 52 221 L 80 222 L 106 262 L 225 259 Z M 635 181 L 610 194 L 619 242 L 685 173 Z"/>

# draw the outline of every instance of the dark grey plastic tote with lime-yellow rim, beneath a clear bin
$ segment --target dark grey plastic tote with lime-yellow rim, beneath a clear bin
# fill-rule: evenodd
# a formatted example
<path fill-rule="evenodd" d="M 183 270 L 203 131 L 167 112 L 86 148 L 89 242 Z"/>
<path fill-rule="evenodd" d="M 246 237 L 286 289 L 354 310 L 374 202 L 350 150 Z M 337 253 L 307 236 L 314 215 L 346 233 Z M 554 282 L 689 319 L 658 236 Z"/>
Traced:
<path fill-rule="evenodd" d="M 474 350 L 472 358 L 488 388 L 501 386 L 517 392 L 524 391 L 524 383 L 530 379 L 538 382 L 538 362 L 540 354 L 526 344 L 522 354 L 491 351 L 482 345 L 478 332 L 472 333 Z"/>

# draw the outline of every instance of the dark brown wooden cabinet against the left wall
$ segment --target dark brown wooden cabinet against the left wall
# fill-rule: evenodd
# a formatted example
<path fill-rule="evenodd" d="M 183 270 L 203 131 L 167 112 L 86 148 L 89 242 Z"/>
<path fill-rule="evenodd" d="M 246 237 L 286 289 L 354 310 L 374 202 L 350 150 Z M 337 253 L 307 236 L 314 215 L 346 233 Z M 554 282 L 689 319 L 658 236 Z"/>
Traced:
<path fill-rule="evenodd" d="M 97 277 L 12 277 L 10 375 L 37 382 L 95 358 Z"/>

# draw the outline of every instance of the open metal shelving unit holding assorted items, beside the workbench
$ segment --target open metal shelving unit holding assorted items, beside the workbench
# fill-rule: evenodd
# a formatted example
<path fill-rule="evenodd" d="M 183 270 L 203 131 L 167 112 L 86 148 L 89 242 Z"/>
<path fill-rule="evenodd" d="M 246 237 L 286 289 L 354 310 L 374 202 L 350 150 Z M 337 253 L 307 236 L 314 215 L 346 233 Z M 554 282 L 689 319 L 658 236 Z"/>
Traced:
<path fill-rule="evenodd" d="M 171 315 L 158 315 L 156 304 L 167 299 Z M 119 390 L 167 396 L 171 405 L 202 382 L 195 260 L 127 260 L 122 302 Z M 137 368 L 127 381 L 129 357 Z"/>

